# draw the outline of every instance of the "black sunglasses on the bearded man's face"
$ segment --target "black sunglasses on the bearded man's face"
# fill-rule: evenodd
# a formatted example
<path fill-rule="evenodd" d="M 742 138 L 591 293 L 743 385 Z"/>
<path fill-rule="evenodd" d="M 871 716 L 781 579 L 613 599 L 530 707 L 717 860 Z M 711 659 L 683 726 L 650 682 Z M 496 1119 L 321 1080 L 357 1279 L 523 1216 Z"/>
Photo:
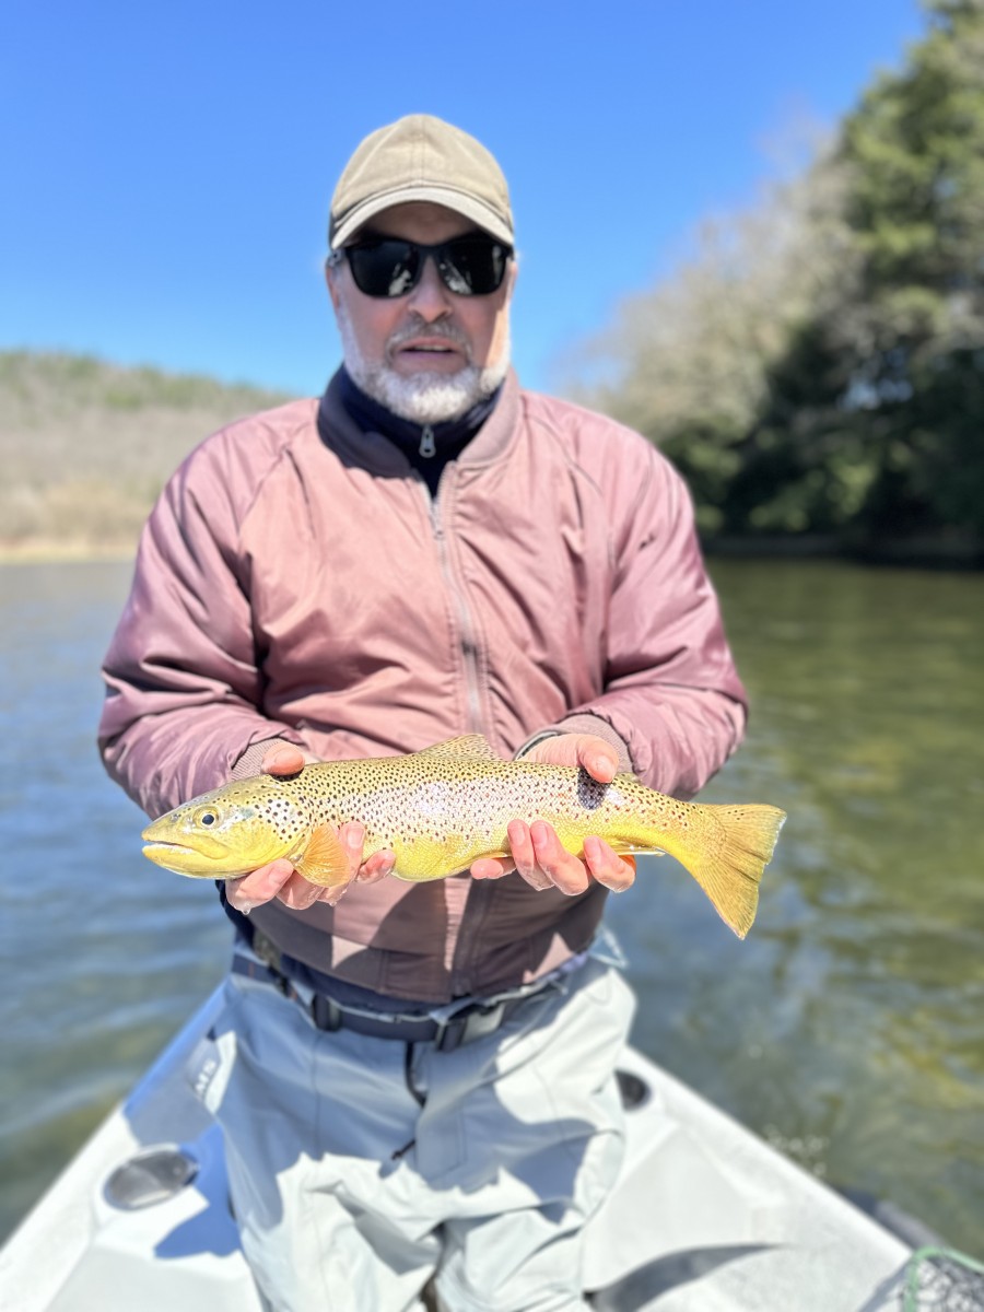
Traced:
<path fill-rule="evenodd" d="M 458 297 L 488 297 L 497 291 L 513 252 L 493 237 L 470 235 L 421 245 L 403 237 L 365 236 L 353 245 L 333 251 L 328 264 L 349 261 L 352 277 L 367 297 L 405 297 L 420 282 L 428 256 L 433 257 L 441 281 Z"/>

